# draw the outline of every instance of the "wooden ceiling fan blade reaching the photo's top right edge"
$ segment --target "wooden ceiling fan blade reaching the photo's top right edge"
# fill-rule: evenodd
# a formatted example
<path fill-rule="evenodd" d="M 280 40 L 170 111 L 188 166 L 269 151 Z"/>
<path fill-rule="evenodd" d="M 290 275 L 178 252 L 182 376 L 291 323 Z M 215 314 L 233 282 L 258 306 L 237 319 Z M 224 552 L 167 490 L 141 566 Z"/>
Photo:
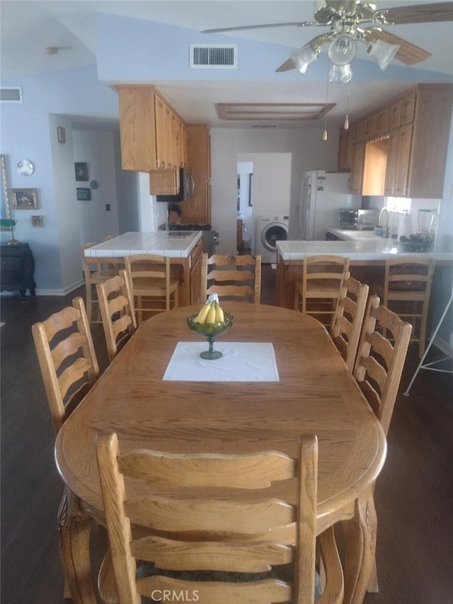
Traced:
<path fill-rule="evenodd" d="M 373 21 L 384 25 L 402 25 L 404 23 L 431 23 L 434 21 L 453 21 L 453 2 L 436 4 L 413 4 L 398 8 L 384 8 L 373 13 Z"/>

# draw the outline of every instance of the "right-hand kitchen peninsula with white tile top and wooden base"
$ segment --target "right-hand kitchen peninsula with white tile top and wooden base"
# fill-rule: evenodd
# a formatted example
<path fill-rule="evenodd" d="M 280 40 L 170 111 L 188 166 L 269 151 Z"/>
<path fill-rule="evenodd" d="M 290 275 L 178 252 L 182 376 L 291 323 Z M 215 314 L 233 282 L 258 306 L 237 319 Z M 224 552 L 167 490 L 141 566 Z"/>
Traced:
<path fill-rule="evenodd" d="M 396 239 L 378 237 L 373 231 L 328 229 L 328 232 L 347 239 L 345 241 L 277 241 L 277 290 L 280 306 L 294 307 L 294 280 L 302 278 L 300 261 L 305 256 L 334 254 L 350 258 L 352 277 L 367 283 L 370 291 L 375 284 L 384 283 L 384 266 L 390 257 L 434 258 L 436 267 L 453 266 L 453 252 L 434 248 L 432 251 L 404 251 Z"/>

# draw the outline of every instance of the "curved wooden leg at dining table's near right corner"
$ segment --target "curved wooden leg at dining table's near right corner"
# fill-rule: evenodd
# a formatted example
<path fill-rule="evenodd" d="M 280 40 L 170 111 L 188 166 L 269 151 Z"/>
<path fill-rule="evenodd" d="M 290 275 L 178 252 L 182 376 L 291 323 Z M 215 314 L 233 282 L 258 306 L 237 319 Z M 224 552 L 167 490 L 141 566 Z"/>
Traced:
<path fill-rule="evenodd" d="M 351 520 L 343 522 L 345 532 L 345 598 L 344 604 L 362 604 L 374 568 L 377 515 L 373 486 L 355 502 Z"/>

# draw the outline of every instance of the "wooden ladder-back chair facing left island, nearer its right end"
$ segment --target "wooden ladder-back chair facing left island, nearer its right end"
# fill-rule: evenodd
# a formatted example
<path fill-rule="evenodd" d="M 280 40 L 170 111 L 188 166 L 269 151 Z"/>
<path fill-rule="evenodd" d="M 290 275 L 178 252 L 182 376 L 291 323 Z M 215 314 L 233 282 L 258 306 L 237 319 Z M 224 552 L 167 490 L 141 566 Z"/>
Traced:
<path fill-rule="evenodd" d="M 171 276 L 168 256 L 153 253 L 137 253 L 125 256 L 137 324 L 143 314 L 156 314 L 178 308 L 179 279 Z"/>

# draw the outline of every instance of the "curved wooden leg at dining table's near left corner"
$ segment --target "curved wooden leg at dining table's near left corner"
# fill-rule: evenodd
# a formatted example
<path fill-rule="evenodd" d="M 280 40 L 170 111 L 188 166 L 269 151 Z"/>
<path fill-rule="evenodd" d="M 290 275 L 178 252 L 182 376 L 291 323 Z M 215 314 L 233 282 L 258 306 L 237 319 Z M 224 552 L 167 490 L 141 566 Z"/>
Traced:
<path fill-rule="evenodd" d="M 79 498 L 64 490 L 58 511 L 59 551 L 74 604 L 96 604 L 90 562 L 93 519 L 81 509 Z"/>

